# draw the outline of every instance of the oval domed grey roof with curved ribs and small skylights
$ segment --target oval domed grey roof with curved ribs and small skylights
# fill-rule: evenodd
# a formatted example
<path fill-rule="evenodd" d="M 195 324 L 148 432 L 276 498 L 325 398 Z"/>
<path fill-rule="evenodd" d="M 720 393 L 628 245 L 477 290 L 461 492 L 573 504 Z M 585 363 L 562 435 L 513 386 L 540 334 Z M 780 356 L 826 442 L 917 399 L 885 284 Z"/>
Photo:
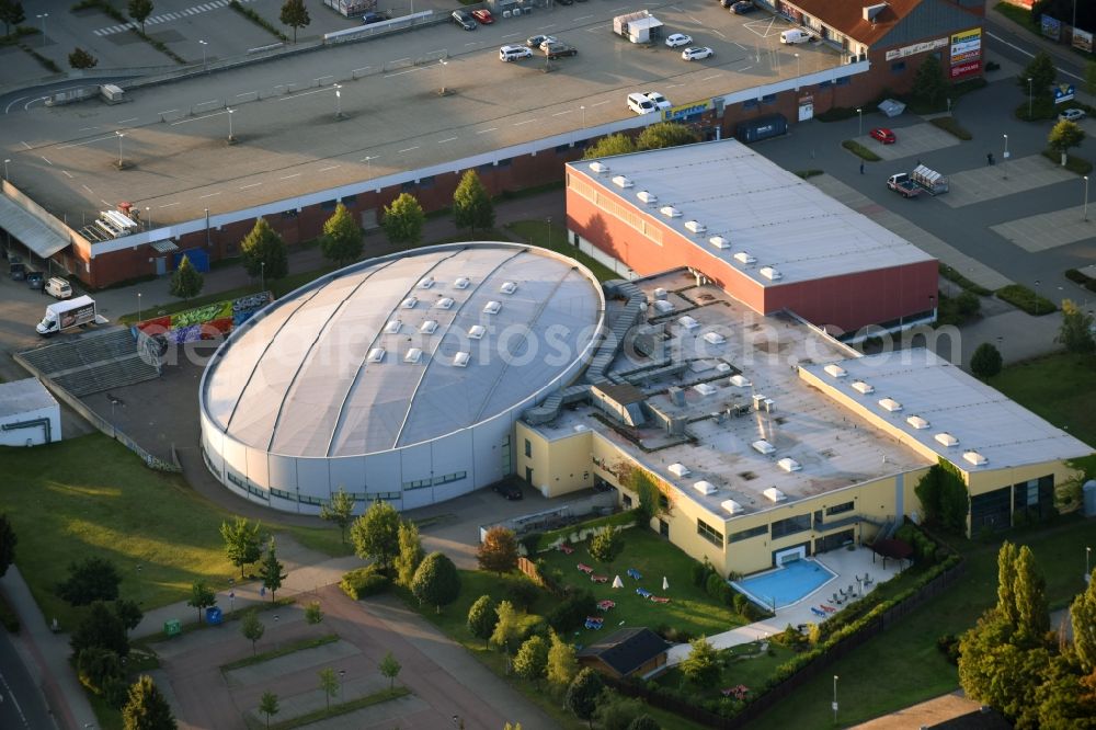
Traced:
<path fill-rule="evenodd" d="M 238 329 L 207 369 L 203 408 L 231 437 L 286 456 L 418 444 L 546 388 L 585 356 L 603 312 L 593 276 L 544 249 L 467 243 L 373 259 Z"/>

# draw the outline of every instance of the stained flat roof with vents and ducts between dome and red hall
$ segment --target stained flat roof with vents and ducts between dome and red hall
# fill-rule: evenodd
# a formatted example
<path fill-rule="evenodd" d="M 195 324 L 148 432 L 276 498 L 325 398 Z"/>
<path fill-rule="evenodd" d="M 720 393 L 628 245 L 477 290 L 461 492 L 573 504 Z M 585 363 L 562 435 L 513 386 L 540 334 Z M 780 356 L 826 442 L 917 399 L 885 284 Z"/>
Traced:
<path fill-rule="evenodd" d="M 681 375 L 635 385 L 648 393 L 653 408 L 685 419 L 685 435 L 693 441 L 669 435 L 653 420 L 635 430 L 609 427 L 608 417 L 591 406 L 564 409 L 552 424 L 537 426 L 547 437 L 572 435 L 574 426 L 583 425 L 720 518 L 731 516 L 721 506 L 724 500 L 734 500 L 743 509 L 741 514 L 751 514 L 932 463 L 841 407 L 797 373 L 797 365 L 844 361 L 849 351 L 790 317 L 762 317 L 715 286 L 696 287 L 695 280 L 683 272 L 644 280 L 639 286 L 651 299 L 655 288 L 671 292 L 667 301 L 674 304 L 675 311 L 657 321 L 664 323 L 670 335 L 673 360 L 688 366 Z M 696 304 L 703 306 L 682 311 Z M 696 321 L 695 327 L 678 321 L 686 316 Z M 710 344 L 706 340 L 709 333 L 720 335 L 723 342 Z M 618 356 L 610 377 L 644 364 L 651 363 Z M 744 378 L 742 385 L 732 383 L 732 374 Z M 684 404 L 674 404 L 667 393 L 670 386 L 685 388 Z M 712 390 L 704 395 L 701 390 L 708 388 Z M 755 395 L 770 399 L 772 411 L 764 410 L 764 404 L 755 410 Z M 758 441 L 767 442 L 772 452 L 757 450 L 753 444 Z M 785 468 L 781 459 L 795 464 L 787 463 Z M 689 474 L 678 477 L 671 472 L 670 466 L 675 464 L 687 467 Z M 710 482 L 717 491 L 701 494 L 694 489 L 698 481 Z M 764 493 L 770 488 L 783 492 L 787 501 L 773 502 Z"/>

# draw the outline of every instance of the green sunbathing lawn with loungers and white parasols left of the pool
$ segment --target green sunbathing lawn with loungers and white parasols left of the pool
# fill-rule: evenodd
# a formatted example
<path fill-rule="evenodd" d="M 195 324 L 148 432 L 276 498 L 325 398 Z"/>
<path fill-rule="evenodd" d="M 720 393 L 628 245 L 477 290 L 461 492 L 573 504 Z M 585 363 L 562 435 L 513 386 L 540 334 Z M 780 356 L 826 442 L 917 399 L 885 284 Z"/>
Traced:
<path fill-rule="evenodd" d="M 612 566 L 594 560 L 586 550 L 589 543 L 574 546 L 572 555 L 558 550 L 541 552 L 547 569 L 558 568 L 563 572 L 566 583 L 589 588 L 598 600 L 612 600 L 616 607 L 606 614 L 603 632 L 625 626 L 647 626 L 657 628 L 665 624 L 694 636 L 711 636 L 743 625 L 741 616 L 730 607 L 721 605 L 707 593 L 693 585 L 690 570 L 696 562 L 678 548 L 649 529 L 633 527 L 621 532 L 625 548 Z M 583 562 L 594 569 L 595 574 L 608 575 L 608 583 L 593 583 L 578 566 Z M 643 580 L 636 582 L 626 574 L 635 568 Z M 613 589 L 612 581 L 620 575 L 625 588 Z M 662 590 L 662 578 L 670 581 L 670 590 Z M 638 586 L 646 588 L 658 596 L 669 596 L 670 603 L 653 603 L 636 595 Z M 589 641 L 596 631 L 581 629 L 581 642 Z"/>

